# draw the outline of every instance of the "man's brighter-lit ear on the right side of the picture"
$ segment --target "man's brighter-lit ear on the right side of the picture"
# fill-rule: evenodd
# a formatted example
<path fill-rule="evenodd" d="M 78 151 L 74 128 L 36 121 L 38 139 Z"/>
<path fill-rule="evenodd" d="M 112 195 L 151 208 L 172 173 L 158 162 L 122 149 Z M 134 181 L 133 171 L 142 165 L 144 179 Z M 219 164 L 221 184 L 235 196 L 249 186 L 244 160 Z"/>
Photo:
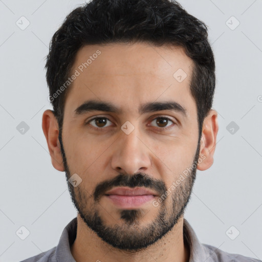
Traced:
<path fill-rule="evenodd" d="M 213 155 L 218 130 L 217 112 L 215 110 L 210 110 L 203 122 L 199 153 L 199 159 L 202 159 L 202 161 L 199 161 L 197 166 L 199 170 L 203 171 L 208 169 L 214 162 Z"/>

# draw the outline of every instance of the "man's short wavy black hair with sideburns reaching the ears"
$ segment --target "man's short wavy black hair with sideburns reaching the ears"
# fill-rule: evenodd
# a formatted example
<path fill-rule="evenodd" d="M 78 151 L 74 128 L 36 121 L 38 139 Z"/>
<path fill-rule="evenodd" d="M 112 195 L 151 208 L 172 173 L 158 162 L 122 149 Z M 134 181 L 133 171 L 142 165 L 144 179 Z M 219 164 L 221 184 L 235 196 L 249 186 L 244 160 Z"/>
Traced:
<path fill-rule="evenodd" d="M 45 67 L 59 128 L 69 88 L 57 91 L 68 80 L 77 51 L 85 45 L 120 42 L 183 47 L 193 60 L 190 93 L 197 104 L 200 137 L 213 102 L 214 56 L 207 26 L 172 0 L 93 0 L 67 15 L 50 41 Z"/>

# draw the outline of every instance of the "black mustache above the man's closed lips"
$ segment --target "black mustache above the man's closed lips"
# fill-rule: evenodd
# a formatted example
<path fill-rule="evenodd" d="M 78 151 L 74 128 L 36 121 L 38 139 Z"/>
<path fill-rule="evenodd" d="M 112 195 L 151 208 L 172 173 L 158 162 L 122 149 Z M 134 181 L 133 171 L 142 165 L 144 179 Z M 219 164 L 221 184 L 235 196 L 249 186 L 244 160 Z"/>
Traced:
<path fill-rule="evenodd" d="M 153 179 L 145 173 L 137 173 L 133 176 L 120 173 L 114 179 L 105 180 L 97 185 L 93 194 L 95 201 L 98 201 L 106 191 L 118 186 L 145 187 L 155 190 L 160 195 L 167 191 L 166 185 L 162 180 Z"/>

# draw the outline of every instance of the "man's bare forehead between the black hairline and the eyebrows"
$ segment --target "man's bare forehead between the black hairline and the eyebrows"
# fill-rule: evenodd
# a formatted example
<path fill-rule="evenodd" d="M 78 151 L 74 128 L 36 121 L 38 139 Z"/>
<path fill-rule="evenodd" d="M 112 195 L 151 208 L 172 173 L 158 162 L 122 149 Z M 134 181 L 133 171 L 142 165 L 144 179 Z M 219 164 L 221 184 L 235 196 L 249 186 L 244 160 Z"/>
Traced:
<path fill-rule="evenodd" d="M 126 109 L 141 103 L 172 100 L 193 103 L 193 61 L 181 47 L 149 43 L 89 45 L 76 54 L 65 106 L 74 110 L 85 100 L 112 101 Z"/>

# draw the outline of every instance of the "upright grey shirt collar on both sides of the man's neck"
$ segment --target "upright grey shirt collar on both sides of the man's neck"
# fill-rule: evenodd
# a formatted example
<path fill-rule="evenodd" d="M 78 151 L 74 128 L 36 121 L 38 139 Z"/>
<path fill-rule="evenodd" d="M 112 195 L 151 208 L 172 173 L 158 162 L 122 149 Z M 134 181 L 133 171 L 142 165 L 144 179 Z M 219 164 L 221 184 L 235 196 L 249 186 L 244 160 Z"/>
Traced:
<path fill-rule="evenodd" d="M 77 217 L 69 222 L 64 228 L 59 243 L 56 247 L 55 258 L 57 262 L 76 262 L 71 254 L 70 246 L 74 243 L 77 231 Z M 184 241 L 187 241 L 190 248 L 189 262 L 209 262 L 210 257 L 204 246 L 199 242 L 197 235 L 188 221 L 184 218 L 183 224 Z"/>

